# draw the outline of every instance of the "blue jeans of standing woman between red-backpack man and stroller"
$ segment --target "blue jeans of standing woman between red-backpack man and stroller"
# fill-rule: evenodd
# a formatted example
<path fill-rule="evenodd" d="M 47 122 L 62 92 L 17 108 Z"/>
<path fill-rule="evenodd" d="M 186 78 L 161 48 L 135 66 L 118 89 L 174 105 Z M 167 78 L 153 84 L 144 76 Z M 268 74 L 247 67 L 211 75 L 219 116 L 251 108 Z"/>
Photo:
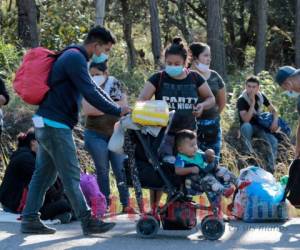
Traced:
<path fill-rule="evenodd" d="M 97 182 L 100 191 L 105 195 L 107 204 L 110 203 L 109 164 L 117 181 L 120 201 L 123 206 L 128 206 L 129 192 L 123 171 L 124 155 L 108 150 L 109 137 L 96 131 L 85 129 L 84 144 L 91 154 L 96 166 Z"/>

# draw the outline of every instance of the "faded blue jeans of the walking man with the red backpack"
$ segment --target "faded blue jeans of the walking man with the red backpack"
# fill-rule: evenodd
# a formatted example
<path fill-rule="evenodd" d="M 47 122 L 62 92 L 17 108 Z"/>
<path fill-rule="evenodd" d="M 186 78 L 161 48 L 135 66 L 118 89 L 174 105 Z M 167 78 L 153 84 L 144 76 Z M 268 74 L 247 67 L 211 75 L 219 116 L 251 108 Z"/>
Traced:
<path fill-rule="evenodd" d="M 38 218 L 46 191 L 59 174 L 76 217 L 86 221 L 91 216 L 91 211 L 80 189 L 80 166 L 72 130 L 45 126 L 36 128 L 35 136 L 39 148 L 23 218 Z"/>

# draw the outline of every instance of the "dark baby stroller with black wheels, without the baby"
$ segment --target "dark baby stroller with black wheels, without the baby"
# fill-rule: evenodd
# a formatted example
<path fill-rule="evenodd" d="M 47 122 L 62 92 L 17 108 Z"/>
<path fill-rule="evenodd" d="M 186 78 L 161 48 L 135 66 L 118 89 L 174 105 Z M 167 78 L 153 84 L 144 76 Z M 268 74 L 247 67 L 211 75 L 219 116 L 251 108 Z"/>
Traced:
<path fill-rule="evenodd" d="M 128 159 L 124 163 L 128 186 L 135 190 L 140 219 L 136 232 L 142 238 L 153 238 L 160 227 L 163 230 L 191 230 L 197 226 L 197 210 L 211 211 L 201 221 L 203 236 L 217 240 L 224 234 L 225 224 L 218 217 L 218 207 L 196 204 L 185 195 L 183 178 L 175 174 L 173 164 L 159 159 L 159 148 L 163 144 L 172 123 L 170 115 L 166 128 L 157 137 L 144 134 L 140 130 L 127 130 L 124 151 Z M 155 214 L 144 211 L 142 188 L 160 190 L 167 193 L 166 203 Z"/>

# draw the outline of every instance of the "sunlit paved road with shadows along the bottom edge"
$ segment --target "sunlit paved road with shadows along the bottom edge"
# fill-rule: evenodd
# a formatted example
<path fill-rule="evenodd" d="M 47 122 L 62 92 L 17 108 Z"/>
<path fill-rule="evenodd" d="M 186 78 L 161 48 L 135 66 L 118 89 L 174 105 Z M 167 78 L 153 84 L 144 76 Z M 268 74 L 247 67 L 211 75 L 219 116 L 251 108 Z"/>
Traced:
<path fill-rule="evenodd" d="M 299 249 L 300 218 L 286 223 L 247 224 L 230 222 L 218 241 L 204 240 L 201 232 L 159 231 L 155 239 L 140 239 L 135 219 L 113 218 L 117 226 L 97 237 L 83 237 L 78 222 L 55 225 L 54 235 L 22 235 L 18 223 L 0 223 L 0 249 L 105 249 L 105 250 L 189 250 L 189 249 Z"/>

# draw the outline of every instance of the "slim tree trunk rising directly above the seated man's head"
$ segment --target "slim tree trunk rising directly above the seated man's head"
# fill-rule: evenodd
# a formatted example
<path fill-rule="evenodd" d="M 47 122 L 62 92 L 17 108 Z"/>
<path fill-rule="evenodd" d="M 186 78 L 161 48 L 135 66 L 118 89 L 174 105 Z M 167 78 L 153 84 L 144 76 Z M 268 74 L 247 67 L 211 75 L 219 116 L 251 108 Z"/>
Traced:
<path fill-rule="evenodd" d="M 266 67 L 266 38 L 267 38 L 268 0 L 256 0 L 256 53 L 254 73 L 258 74 Z"/>

